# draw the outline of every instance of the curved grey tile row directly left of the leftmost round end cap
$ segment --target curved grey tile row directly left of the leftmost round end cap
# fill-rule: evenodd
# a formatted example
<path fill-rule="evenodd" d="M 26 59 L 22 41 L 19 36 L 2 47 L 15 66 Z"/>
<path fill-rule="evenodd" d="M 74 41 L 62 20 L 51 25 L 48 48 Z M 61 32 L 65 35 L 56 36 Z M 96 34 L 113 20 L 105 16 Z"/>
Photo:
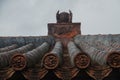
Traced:
<path fill-rule="evenodd" d="M 33 48 L 33 44 L 27 44 L 25 46 L 19 47 L 17 49 L 13 49 L 7 52 L 0 53 L 0 68 L 5 68 L 10 66 L 10 59 L 11 57 L 16 54 L 22 54 L 25 53 Z"/>

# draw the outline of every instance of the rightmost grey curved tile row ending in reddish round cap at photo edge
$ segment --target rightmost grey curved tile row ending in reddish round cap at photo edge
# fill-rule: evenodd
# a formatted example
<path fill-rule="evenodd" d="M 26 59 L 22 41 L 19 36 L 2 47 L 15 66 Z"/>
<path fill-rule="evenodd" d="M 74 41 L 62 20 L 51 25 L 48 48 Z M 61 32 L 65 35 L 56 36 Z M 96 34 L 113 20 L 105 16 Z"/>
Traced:
<path fill-rule="evenodd" d="M 120 43 L 119 41 L 113 41 L 108 36 L 101 36 L 95 38 L 94 40 L 91 38 L 95 36 L 76 36 L 74 38 L 75 43 L 86 52 L 92 62 L 96 62 L 99 65 L 110 65 L 111 67 L 119 68 L 120 67 Z M 107 41 L 104 38 L 108 38 Z M 102 39 L 101 39 L 102 38 Z M 106 43 L 107 42 L 107 43 Z"/>

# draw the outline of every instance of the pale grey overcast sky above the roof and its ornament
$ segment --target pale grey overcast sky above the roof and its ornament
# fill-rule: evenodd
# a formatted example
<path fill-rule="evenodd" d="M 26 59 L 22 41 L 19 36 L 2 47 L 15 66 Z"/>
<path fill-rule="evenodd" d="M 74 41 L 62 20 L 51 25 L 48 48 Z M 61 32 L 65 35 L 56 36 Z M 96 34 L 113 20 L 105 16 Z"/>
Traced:
<path fill-rule="evenodd" d="M 120 34 L 120 0 L 0 0 L 0 36 L 44 36 L 56 12 L 73 13 L 82 34 Z"/>

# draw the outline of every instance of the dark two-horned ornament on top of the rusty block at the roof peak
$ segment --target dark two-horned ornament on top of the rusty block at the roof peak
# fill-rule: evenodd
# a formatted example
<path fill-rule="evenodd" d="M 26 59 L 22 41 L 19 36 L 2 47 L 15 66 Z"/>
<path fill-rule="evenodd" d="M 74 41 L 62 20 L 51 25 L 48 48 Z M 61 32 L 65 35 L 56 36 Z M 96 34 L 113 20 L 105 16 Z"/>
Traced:
<path fill-rule="evenodd" d="M 68 12 L 61 12 L 59 10 L 56 13 L 57 23 L 72 23 L 72 12 L 69 10 Z"/>

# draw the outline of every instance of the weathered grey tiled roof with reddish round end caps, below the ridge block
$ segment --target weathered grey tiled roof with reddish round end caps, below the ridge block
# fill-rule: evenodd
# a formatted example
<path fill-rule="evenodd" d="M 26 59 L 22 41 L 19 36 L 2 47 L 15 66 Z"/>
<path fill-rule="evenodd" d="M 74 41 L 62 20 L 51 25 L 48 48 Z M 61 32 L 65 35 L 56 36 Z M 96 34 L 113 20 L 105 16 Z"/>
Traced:
<path fill-rule="evenodd" d="M 90 76 L 91 70 L 108 69 L 105 77 L 111 67 L 120 68 L 120 35 L 77 35 L 67 42 L 66 48 L 63 45 L 52 36 L 0 37 L 0 76 L 10 78 L 15 71 L 21 71 L 26 78 L 36 75 L 42 79 L 52 70 L 62 78 L 67 58 L 71 72 L 65 74 L 72 78 L 81 69 L 87 68 Z M 100 67 L 93 68 L 94 64 Z"/>

